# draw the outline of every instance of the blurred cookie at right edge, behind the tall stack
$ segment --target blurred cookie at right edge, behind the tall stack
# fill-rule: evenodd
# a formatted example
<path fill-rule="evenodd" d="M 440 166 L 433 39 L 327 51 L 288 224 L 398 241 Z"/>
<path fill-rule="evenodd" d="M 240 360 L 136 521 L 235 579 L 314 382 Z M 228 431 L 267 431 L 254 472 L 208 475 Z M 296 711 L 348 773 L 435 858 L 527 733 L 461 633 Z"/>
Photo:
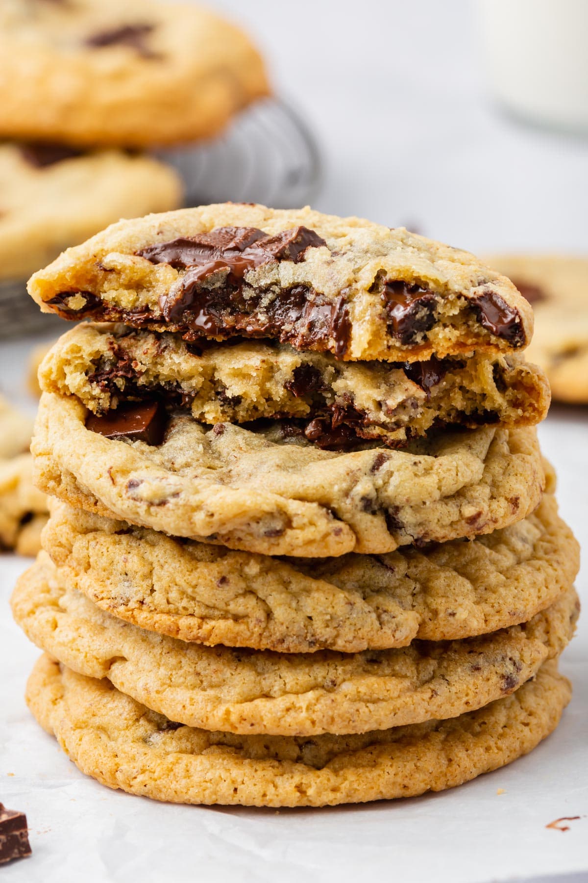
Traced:
<path fill-rule="evenodd" d="M 525 355 L 546 372 L 553 398 L 588 404 L 588 258 L 495 254 L 485 260 L 532 305 L 535 330 Z"/>

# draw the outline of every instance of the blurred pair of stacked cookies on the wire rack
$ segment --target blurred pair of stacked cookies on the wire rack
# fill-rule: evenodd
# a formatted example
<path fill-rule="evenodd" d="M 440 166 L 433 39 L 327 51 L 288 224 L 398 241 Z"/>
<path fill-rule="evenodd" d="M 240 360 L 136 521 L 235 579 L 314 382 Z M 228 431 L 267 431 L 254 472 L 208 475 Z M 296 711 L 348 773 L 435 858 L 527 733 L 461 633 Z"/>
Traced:
<path fill-rule="evenodd" d="M 0 90 L 5 334 L 34 269 L 120 217 L 182 204 L 175 168 L 145 151 L 211 137 L 268 84 L 247 36 L 194 4 L 10 0 Z"/>

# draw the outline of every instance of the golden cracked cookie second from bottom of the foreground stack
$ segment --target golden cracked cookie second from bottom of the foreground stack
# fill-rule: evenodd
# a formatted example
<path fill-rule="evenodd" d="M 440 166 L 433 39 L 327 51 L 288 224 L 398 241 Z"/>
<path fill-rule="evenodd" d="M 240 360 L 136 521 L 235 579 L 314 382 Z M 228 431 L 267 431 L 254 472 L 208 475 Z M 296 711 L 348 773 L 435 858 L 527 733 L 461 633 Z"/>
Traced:
<path fill-rule="evenodd" d="M 108 677 L 172 721 L 274 736 L 365 733 L 488 705 L 562 653 L 579 611 L 570 588 L 529 623 L 462 641 L 351 654 L 207 647 L 105 613 L 64 587 L 42 552 L 11 606 L 42 650 L 79 674 Z"/>

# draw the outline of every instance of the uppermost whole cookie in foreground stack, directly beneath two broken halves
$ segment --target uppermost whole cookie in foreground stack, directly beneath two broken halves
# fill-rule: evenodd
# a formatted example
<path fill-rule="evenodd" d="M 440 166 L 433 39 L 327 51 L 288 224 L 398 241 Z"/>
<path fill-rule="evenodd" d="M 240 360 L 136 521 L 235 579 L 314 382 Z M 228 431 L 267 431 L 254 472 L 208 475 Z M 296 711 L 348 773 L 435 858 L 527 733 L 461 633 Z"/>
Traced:
<path fill-rule="evenodd" d="M 43 491 L 99 515 L 263 555 L 383 553 L 474 537 L 525 518 L 545 485 L 533 428 L 338 452 L 285 433 L 279 421 L 211 428 L 150 406 L 123 435 L 106 438 L 86 420 L 75 397 L 41 396 L 32 450 Z"/>

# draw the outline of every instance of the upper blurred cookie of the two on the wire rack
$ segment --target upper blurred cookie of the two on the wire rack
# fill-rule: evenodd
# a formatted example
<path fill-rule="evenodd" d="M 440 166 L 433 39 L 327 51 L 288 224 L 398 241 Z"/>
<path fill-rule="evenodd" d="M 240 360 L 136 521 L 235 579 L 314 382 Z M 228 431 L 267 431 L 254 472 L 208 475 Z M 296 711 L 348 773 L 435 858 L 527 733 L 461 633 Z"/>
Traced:
<path fill-rule="evenodd" d="M 269 87 L 248 37 L 193 4 L 3 0 L 0 136 L 147 147 L 209 138 Z"/>

